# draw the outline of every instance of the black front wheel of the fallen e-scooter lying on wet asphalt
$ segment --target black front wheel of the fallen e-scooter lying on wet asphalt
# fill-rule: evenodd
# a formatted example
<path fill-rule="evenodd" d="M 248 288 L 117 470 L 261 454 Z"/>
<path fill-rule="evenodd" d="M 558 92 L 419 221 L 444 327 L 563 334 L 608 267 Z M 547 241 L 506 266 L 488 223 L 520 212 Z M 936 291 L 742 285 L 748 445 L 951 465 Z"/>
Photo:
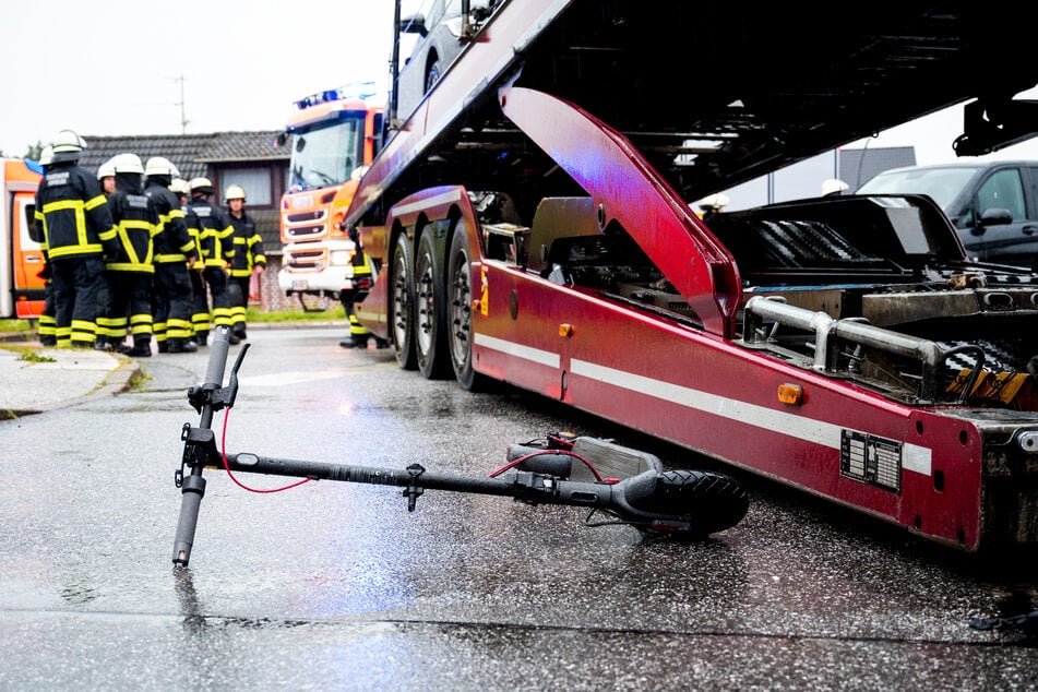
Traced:
<path fill-rule="evenodd" d="M 659 474 L 656 490 L 632 505 L 644 512 L 681 516 L 691 524 L 682 534 L 640 527 L 649 535 L 700 539 L 731 528 L 750 509 L 747 491 L 733 478 L 707 470 L 668 470 Z"/>

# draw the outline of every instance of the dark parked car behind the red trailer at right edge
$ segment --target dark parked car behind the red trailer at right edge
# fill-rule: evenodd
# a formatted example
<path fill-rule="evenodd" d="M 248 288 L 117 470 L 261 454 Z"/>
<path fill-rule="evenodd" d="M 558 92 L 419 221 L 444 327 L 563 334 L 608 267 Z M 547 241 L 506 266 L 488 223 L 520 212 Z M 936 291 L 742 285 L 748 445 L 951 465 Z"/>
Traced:
<path fill-rule="evenodd" d="M 970 259 L 1038 270 L 1038 162 L 962 162 L 894 168 L 856 194 L 929 194 Z"/>

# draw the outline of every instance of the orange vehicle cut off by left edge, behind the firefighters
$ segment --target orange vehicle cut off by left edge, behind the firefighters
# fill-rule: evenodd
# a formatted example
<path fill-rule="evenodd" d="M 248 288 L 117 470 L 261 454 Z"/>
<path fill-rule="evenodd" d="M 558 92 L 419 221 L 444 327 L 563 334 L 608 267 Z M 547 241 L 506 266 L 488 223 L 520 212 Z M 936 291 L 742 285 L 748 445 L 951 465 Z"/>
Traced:
<path fill-rule="evenodd" d="M 44 251 L 34 230 L 36 188 L 43 169 L 36 162 L 0 159 L 0 317 L 38 318 L 44 310 Z"/>

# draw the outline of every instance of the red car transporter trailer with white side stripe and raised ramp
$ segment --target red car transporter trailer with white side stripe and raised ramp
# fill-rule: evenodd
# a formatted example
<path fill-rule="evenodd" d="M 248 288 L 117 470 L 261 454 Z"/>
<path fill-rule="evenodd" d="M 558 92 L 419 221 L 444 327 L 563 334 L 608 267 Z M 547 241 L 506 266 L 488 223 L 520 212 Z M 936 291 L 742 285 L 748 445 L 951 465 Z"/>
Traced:
<path fill-rule="evenodd" d="M 1033 136 L 1029 23 L 812 13 L 498 3 L 360 181 L 358 317 L 422 377 L 528 390 L 967 553 L 1034 548 L 1038 275 L 969 261 L 927 195 L 690 207 L 956 104 L 961 156 Z"/>

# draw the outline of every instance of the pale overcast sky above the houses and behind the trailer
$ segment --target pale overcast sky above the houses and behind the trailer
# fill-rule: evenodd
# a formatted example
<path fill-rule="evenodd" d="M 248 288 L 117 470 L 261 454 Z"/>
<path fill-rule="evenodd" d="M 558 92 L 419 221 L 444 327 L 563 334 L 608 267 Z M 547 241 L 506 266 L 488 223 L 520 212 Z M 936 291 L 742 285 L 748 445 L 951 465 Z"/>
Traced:
<path fill-rule="evenodd" d="M 423 1 L 405 0 L 404 13 Z M 307 94 L 369 80 L 385 90 L 393 4 L 5 3 L 0 151 L 22 156 L 64 128 L 86 136 L 276 130 Z M 914 145 L 919 164 L 942 163 L 955 159 L 961 132 L 958 106 L 888 130 L 869 147 Z M 1038 159 L 1038 139 L 986 158 L 1011 157 Z"/>

